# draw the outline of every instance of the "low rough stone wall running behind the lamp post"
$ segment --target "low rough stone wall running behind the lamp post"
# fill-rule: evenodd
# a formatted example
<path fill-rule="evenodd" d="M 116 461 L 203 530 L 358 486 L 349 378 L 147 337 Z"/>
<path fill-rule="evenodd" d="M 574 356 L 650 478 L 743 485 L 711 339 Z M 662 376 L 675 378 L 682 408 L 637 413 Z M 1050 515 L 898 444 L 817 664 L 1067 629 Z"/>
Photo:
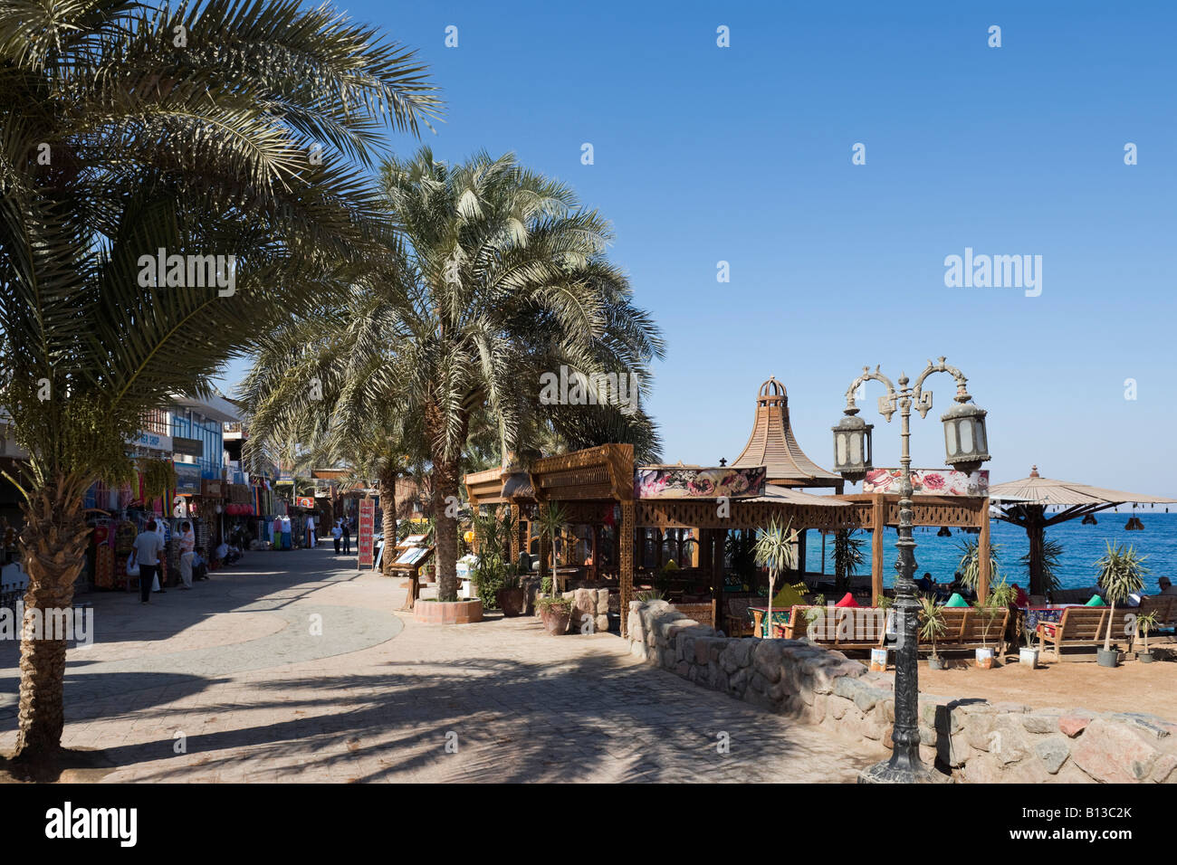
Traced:
<path fill-rule="evenodd" d="M 630 652 L 684 679 L 879 757 L 891 747 L 891 677 L 803 640 L 730 638 L 666 601 L 633 601 Z M 1030 708 L 919 694 L 920 754 L 965 781 L 1177 784 L 1177 724 L 1148 714 Z"/>

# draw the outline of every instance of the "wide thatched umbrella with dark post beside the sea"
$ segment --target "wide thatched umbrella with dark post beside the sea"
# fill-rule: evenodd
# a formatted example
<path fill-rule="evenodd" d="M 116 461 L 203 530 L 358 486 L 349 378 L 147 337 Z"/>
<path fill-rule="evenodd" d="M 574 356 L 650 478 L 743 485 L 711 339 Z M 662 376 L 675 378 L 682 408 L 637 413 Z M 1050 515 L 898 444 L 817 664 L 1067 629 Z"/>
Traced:
<path fill-rule="evenodd" d="M 1125 493 L 1088 484 L 1053 480 L 1038 474 L 1038 466 L 1030 467 L 1030 477 L 989 487 L 989 498 L 1000 513 L 997 519 L 1022 526 L 1030 539 L 1030 594 L 1044 594 L 1042 548 L 1046 526 L 1088 517 L 1098 511 L 1125 504 L 1171 505 L 1177 499 L 1145 493 Z M 1046 508 L 1062 508 L 1046 513 Z"/>

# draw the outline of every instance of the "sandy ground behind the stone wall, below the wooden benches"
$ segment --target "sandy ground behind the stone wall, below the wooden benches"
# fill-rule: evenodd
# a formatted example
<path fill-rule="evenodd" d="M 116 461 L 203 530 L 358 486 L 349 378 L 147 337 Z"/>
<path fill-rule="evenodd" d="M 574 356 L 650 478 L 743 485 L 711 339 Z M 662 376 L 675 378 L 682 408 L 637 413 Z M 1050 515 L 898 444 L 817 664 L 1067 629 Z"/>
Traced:
<path fill-rule="evenodd" d="M 1162 647 L 1157 647 L 1159 657 Z M 957 664 L 929 670 L 919 664 L 919 690 L 945 697 L 983 697 L 990 701 L 1024 703 L 1033 708 L 1091 708 L 1099 712 L 1146 712 L 1177 720 L 1177 646 L 1164 647 L 1169 660 L 1141 664 L 1129 659 L 1116 668 L 1102 667 L 1084 656 L 1066 656 L 1060 664 L 1048 653 L 1045 664 L 1030 670 L 1010 663 L 992 670 Z M 1083 660 L 1073 660 L 1084 658 Z"/>

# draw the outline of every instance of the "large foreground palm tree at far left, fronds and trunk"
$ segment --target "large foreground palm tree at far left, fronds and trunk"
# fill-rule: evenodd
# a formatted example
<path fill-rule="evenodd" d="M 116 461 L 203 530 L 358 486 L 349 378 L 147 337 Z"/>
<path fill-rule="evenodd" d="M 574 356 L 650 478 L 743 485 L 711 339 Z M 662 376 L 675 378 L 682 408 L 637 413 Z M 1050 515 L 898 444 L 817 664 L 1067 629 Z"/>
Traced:
<path fill-rule="evenodd" d="M 0 5 L 0 404 L 29 453 L 27 607 L 72 603 L 84 493 L 128 477 L 142 413 L 202 392 L 371 245 L 354 161 L 381 127 L 427 122 L 432 91 L 411 52 L 326 6 Z M 166 273 L 161 249 L 180 255 Z M 65 641 L 21 652 L 32 763 L 60 744 Z"/>

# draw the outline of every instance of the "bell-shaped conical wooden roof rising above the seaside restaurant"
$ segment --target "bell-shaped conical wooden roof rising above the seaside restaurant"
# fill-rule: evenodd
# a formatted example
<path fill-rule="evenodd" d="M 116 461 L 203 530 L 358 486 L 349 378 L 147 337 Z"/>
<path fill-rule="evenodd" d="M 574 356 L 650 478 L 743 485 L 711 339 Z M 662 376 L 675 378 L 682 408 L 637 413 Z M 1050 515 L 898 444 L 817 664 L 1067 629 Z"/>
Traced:
<path fill-rule="evenodd" d="M 805 455 L 789 424 L 789 394 L 785 386 L 771 378 L 760 385 L 756 398 L 756 421 L 744 452 L 732 461 L 734 468 L 764 466 L 766 481 L 778 486 L 831 487 L 843 479 L 827 472 Z"/>

